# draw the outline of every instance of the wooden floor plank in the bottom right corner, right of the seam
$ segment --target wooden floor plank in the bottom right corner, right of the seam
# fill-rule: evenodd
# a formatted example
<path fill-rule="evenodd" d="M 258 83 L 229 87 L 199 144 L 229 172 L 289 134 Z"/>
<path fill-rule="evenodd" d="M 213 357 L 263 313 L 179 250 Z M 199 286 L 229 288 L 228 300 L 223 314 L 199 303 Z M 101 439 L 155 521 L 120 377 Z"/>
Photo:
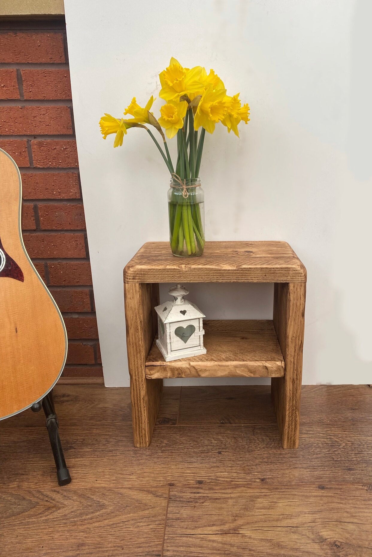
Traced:
<path fill-rule="evenodd" d="M 163 556 L 372 554 L 367 485 L 172 488 Z"/>

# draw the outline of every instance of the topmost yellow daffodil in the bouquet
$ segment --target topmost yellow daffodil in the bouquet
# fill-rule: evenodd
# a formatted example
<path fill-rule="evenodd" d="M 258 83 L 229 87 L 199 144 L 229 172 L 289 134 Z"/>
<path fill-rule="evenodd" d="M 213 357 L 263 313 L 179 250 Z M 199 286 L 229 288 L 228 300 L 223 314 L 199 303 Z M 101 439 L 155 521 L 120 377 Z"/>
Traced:
<path fill-rule="evenodd" d="M 201 66 L 195 66 L 191 70 L 184 68 L 176 58 L 172 57 L 166 70 L 159 74 L 161 83 L 159 96 L 166 101 L 178 101 L 182 95 L 199 91 L 201 71 Z"/>

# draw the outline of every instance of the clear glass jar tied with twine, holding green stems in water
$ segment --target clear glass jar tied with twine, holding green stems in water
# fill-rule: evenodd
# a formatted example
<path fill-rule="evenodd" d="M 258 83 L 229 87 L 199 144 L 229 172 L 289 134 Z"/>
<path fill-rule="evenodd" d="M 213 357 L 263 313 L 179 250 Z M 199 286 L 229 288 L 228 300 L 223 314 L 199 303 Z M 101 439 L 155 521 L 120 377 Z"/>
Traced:
<path fill-rule="evenodd" d="M 204 191 L 200 179 L 171 180 L 168 189 L 169 241 L 173 255 L 197 257 L 204 251 Z"/>

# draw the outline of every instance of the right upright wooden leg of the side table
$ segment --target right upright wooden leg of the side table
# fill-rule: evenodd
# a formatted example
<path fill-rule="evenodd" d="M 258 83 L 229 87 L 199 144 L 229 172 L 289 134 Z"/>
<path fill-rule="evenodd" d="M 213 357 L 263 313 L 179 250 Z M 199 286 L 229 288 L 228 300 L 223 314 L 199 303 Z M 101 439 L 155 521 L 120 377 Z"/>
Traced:
<path fill-rule="evenodd" d="M 285 361 L 284 377 L 271 379 L 271 396 L 283 448 L 297 448 L 300 433 L 305 282 L 276 283 L 274 326 Z"/>

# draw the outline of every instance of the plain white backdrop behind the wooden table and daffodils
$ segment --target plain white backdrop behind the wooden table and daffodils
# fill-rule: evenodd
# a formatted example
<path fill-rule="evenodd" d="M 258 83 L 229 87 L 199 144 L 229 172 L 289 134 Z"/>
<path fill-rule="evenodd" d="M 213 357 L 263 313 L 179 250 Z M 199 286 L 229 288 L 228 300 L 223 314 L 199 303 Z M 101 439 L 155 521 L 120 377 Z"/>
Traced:
<path fill-rule="evenodd" d="M 168 175 L 143 130 L 114 150 L 98 120 L 120 117 L 134 95 L 141 104 L 158 96 L 170 56 L 214 68 L 251 106 L 240 140 L 222 125 L 207 134 L 207 239 L 288 241 L 308 276 L 303 382 L 372 383 L 372 2 L 65 0 L 65 8 L 106 385 L 128 385 L 122 270 L 144 242 L 167 240 Z M 272 314 L 271 285 L 190 290 L 208 317 Z"/>

